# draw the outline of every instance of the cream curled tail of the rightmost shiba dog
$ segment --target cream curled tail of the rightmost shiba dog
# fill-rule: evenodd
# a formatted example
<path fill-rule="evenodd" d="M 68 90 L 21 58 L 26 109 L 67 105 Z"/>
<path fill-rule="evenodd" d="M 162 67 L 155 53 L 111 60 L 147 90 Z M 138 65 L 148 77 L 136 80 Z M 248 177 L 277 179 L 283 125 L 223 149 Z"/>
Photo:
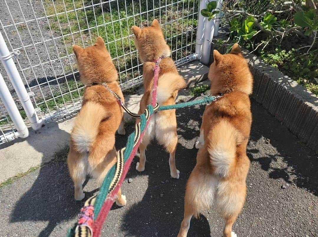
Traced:
<path fill-rule="evenodd" d="M 218 122 L 207 136 L 207 151 L 215 173 L 227 177 L 235 165 L 237 145 L 242 143 L 243 135 L 228 121 Z"/>

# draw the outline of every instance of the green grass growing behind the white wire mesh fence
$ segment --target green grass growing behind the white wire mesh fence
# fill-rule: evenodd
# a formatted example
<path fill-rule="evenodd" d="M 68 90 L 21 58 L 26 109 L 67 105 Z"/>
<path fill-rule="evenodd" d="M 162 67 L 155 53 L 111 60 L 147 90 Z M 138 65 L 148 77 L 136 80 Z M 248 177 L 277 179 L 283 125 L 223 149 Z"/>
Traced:
<path fill-rule="evenodd" d="M 183 47 L 182 49 L 178 49 L 177 52 L 173 52 L 172 58 L 184 57 L 190 53 L 189 51 L 191 49 L 192 52 L 194 52 L 196 33 L 195 31 L 193 34 L 191 32 L 187 33 L 187 31 L 197 27 L 198 15 L 194 14 L 193 16 L 187 17 L 187 11 L 189 9 L 189 14 L 197 12 L 199 1 L 185 0 L 179 4 L 173 2 L 171 6 L 172 0 L 168 0 L 167 8 L 155 10 L 148 13 L 148 16 L 147 14 L 134 16 L 139 12 L 147 11 L 146 1 L 147 0 L 141 0 L 141 4 L 139 1 L 126 3 L 124 1 L 119 1 L 118 3 L 117 1 L 113 1 L 106 2 L 102 7 L 96 5 L 94 8 L 87 7 L 92 5 L 91 1 L 84 1 L 86 6 L 84 11 L 82 0 L 55 0 L 54 5 L 51 0 L 45 0 L 45 11 L 46 15 L 49 16 L 47 28 L 52 29 L 55 37 L 63 36 L 60 38 L 60 43 L 62 45 L 64 45 L 64 43 L 66 44 L 66 47 L 60 50 L 59 56 L 65 57 L 67 54 L 73 54 L 73 44 L 78 44 L 81 47 L 91 46 L 92 43 L 94 44 L 97 36 L 100 35 L 104 39 L 111 57 L 117 58 L 117 60 L 114 60 L 114 64 L 118 71 L 123 72 L 127 70 L 126 72 L 120 73 L 121 82 L 126 82 L 140 75 L 137 67 L 138 55 L 134 52 L 136 48 L 131 27 L 133 25 L 147 26 L 147 18 L 149 19 L 149 23 L 151 23 L 154 18 L 159 19 L 160 16 L 161 24 L 167 23 L 162 29 L 172 51 L 176 50 L 176 48 Z M 98 4 L 100 0 L 93 0 L 93 3 Z M 166 2 L 163 0 L 155 0 L 151 4 L 148 3 L 148 10 L 153 8 L 153 4 L 155 8 L 157 8 L 159 4 L 163 6 Z M 72 11 L 74 8 L 82 9 L 76 10 L 75 12 Z M 110 8 L 112 11 L 109 11 Z M 182 12 L 182 8 L 184 8 L 185 12 Z M 23 25 L 21 25 L 21 27 L 23 27 Z M 90 29 L 88 30 L 88 28 Z M 182 35 L 176 36 L 176 34 L 180 34 L 181 32 L 183 32 Z M 184 47 L 189 44 L 192 45 Z M 130 54 L 130 52 L 132 53 Z M 78 69 L 75 58 L 73 57 L 72 60 L 72 62 L 63 60 L 65 64 L 63 65 L 65 74 L 71 73 L 72 69 L 73 71 Z M 56 111 L 59 108 L 63 108 L 65 104 L 71 103 L 72 99 L 75 101 L 79 100 L 84 90 L 80 89 L 79 92 L 76 90 L 67 93 L 69 91 L 67 83 L 70 90 L 76 89 L 75 81 L 68 80 L 67 82 L 59 82 L 62 93 L 55 91 L 53 95 L 48 95 L 40 100 L 37 99 L 38 107 L 42 112 L 48 113 L 49 110 Z M 78 82 L 78 87 L 81 86 L 83 85 Z M 61 94 L 64 93 L 67 94 L 62 96 Z M 135 93 L 135 88 L 128 89 L 125 93 Z M 2 123 L 5 124 L 6 121 L 2 121 Z"/>

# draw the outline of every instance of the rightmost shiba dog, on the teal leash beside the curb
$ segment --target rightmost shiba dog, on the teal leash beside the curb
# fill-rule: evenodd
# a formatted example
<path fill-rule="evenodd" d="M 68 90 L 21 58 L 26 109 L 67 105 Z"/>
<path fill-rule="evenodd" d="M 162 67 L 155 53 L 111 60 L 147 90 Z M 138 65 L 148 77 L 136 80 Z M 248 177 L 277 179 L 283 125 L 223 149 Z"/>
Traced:
<path fill-rule="evenodd" d="M 214 50 L 213 55 L 209 71 L 211 94 L 226 94 L 205 108 L 197 164 L 187 183 L 178 237 L 187 236 L 191 217 L 197 217 L 212 204 L 225 219 L 224 237 L 236 236 L 232 225 L 245 202 L 253 78 L 238 44 L 230 54 L 221 55 Z"/>

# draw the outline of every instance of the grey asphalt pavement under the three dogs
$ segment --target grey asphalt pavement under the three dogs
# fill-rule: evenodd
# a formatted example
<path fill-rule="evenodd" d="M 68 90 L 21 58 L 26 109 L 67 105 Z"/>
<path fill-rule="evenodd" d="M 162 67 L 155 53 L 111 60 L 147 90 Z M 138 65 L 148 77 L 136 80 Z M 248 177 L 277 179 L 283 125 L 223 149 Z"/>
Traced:
<path fill-rule="evenodd" d="M 195 166 L 194 143 L 203 111 L 204 106 L 177 110 L 176 166 L 180 178 L 170 178 L 169 154 L 153 141 L 146 151 L 144 172 L 135 170 L 135 157 L 122 186 L 127 206 L 114 204 L 102 236 L 177 235 L 183 218 L 185 184 Z M 318 236 L 317 155 L 253 101 L 252 113 L 248 193 L 233 231 L 242 237 Z M 125 145 L 132 129 L 127 127 L 127 135 L 117 137 L 118 149 Z M 86 198 L 98 190 L 92 179 L 84 185 Z M 44 165 L 0 189 L 0 236 L 65 236 L 82 205 L 73 199 L 66 164 Z M 200 219 L 192 219 L 188 236 L 222 236 L 223 226 L 223 220 L 211 208 Z"/>

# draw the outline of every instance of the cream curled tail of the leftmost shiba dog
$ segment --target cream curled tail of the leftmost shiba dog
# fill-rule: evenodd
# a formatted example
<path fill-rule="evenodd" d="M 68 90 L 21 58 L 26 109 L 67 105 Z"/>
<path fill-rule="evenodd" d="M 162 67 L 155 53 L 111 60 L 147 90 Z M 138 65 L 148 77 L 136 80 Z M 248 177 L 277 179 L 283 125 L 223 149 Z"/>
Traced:
<path fill-rule="evenodd" d="M 75 125 L 71 133 L 76 150 L 88 152 L 98 134 L 101 120 L 107 117 L 104 107 L 94 102 L 87 102 L 81 108 L 75 119 Z"/>

